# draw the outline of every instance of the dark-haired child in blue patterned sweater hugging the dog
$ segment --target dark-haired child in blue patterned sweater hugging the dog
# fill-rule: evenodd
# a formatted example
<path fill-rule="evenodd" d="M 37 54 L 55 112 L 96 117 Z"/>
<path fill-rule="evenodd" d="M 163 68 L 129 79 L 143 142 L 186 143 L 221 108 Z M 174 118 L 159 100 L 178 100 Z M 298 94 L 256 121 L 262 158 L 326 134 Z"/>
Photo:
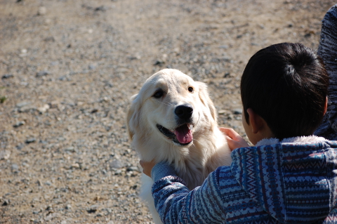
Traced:
<path fill-rule="evenodd" d="M 226 129 L 230 147 L 239 147 L 232 165 L 192 191 L 169 164 L 140 162 L 155 182 L 161 220 L 337 223 L 337 142 L 312 136 L 326 112 L 328 84 L 322 60 L 302 44 L 276 44 L 253 55 L 241 90 L 242 121 L 255 147 Z"/>

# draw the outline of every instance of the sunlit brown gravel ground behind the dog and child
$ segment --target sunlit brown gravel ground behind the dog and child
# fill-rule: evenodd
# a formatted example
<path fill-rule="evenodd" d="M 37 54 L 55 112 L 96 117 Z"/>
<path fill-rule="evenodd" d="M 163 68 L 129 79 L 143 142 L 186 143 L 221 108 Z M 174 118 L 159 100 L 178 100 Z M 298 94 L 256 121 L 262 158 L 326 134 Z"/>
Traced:
<path fill-rule="evenodd" d="M 244 134 L 239 80 L 260 48 L 317 49 L 333 0 L 0 0 L 0 223 L 152 223 L 125 114 L 169 67 L 209 84 Z"/>

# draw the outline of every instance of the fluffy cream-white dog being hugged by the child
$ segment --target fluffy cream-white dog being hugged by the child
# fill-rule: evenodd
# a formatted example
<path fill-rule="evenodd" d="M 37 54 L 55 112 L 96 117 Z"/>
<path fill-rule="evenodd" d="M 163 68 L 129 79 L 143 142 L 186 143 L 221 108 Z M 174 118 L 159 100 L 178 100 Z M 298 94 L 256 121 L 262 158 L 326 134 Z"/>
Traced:
<path fill-rule="evenodd" d="M 218 166 L 230 165 L 230 149 L 206 84 L 165 69 L 147 79 L 132 99 L 127 126 L 140 159 L 173 164 L 191 190 Z M 140 197 L 149 205 L 154 223 L 161 223 L 151 195 L 152 179 L 143 174 L 142 180 Z"/>

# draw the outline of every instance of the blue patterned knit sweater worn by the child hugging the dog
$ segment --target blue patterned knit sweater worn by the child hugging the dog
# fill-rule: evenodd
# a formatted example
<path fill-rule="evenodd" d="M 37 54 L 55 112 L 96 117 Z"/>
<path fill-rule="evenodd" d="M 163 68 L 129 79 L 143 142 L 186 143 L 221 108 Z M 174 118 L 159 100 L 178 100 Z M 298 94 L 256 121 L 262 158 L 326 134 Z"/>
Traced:
<path fill-rule="evenodd" d="M 152 169 L 154 204 L 164 223 L 337 223 L 337 142 L 296 137 L 232 152 L 190 191 L 173 167 Z M 170 176 L 171 175 L 171 176 Z"/>

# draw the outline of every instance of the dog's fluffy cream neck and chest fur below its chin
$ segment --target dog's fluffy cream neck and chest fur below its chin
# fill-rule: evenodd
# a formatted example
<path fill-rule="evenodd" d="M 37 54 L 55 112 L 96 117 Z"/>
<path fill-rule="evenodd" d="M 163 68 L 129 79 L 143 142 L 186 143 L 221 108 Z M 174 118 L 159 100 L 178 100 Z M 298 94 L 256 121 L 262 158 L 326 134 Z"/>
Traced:
<path fill-rule="evenodd" d="M 147 139 L 133 136 L 133 143 L 138 143 L 133 145 L 133 148 L 139 153 L 140 158 L 145 161 L 155 159 L 156 162 L 167 161 L 173 164 L 178 176 L 185 180 L 189 188 L 201 184 L 218 166 L 228 165 L 220 161 L 221 156 L 216 153 L 221 147 L 227 147 L 225 137 L 217 127 L 213 131 L 195 133 L 192 145 L 186 147 L 169 143 L 161 137 L 158 138 L 154 133 L 147 136 L 149 136 Z"/>

